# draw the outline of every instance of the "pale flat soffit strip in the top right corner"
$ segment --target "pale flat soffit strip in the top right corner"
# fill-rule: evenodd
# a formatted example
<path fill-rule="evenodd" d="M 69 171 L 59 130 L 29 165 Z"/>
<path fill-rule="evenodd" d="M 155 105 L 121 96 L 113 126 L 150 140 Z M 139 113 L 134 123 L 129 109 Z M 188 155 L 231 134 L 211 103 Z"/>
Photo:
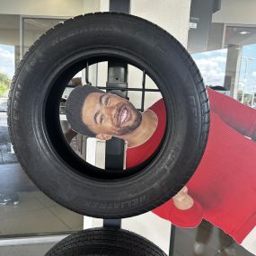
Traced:
<path fill-rule="evenodd" d="M 255 0 L 223 0 L 221 10 L 213 14 L 213 22 L 256 24 Z"/>

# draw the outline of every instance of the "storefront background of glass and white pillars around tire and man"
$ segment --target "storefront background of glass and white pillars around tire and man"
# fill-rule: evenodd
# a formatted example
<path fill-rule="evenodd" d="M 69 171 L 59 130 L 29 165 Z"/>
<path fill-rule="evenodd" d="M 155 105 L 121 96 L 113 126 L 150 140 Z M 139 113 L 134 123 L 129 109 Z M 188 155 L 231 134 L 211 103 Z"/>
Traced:
<path fill-rule="evenodd" d="M 154 22 L 179 40 L 196 62 L 207 86 L 222 86 L 225 91 L 221 93 L 256 109 L 254 0 L 121 2 L 129 2 L 128 13 Z M 14 154 L 7 105 L 15 68 L 41 35 L 77 15 L 109 12 L 113 10 L 110 4 L 111 0 L 0 0 L 0 256 L 45 255 L 68 234 L 103 225 L 102 219 L 60 206 L 33 184 Z M 87 84 L 88 77 L 94 86 L 105 86 L 107 69 L 106 62 L 94 64 L 70 80 L 59 105 L 63 133 L 68 129 L 65 102 L 69 93 L 75 86 Z M 131 87 L 140 88 L 140 81 L 146 86 L 143 105 L 139 90 L 128 92 L 137 109 L 146 110 L 161 98 L 154 81 L 135 66 L 128 65 L 127 80 Z M 78 134 L 70 145 L 79 157 L 104 168 L 104 142 Z M 206 220 L 198 227 L 186 229 L 146 213 L 122 219 L 121 226 L 146 237 L 167 255 L 253 255 Z"/>

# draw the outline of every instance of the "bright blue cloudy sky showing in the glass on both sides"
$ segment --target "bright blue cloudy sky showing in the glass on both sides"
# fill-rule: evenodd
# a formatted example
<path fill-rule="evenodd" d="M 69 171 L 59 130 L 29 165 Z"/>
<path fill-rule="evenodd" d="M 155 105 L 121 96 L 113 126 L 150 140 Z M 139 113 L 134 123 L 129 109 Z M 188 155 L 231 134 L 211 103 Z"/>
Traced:
<path fill-rule="evenodd" d="M 227 49 L 193 54 L 207 85 L 224 85 Z M 0 44 L 0 72 L 14 74 L 14 47 Z M 81 73 L 75 75 L 81 76 Z M 256 92 L 256 44 L 243 46 L 239 86 L 245 93 Z"/>

